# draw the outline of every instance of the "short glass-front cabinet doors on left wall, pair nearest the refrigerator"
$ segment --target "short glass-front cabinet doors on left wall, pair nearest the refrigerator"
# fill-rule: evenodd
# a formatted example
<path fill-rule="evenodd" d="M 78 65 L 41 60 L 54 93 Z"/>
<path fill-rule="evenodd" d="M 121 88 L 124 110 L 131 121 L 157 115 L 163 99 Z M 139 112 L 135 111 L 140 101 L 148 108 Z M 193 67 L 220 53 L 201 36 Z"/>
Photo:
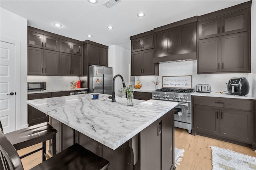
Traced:
<path fill-rule="evenodd" d="M 60 52 L 82 55 L 82 44 L 60 40 Z"/>

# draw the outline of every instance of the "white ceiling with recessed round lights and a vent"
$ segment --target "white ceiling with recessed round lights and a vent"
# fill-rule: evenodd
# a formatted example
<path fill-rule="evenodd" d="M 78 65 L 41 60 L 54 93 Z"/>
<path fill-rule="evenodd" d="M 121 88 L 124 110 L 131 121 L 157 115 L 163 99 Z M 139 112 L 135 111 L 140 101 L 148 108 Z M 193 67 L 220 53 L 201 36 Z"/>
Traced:
<path fill-rule="evenodd" d="M 200 16 L 248 0 L 0 0 L 0 6 L 28 20 L 28 26 L 84 41 L 130 49 L 130 36 L 179 20 Z M 138 12 L 146 15 L 137 17 Z M 63 26 L 57 28 L 53 23 Z M 107 26 L 114 26 L 109 30 Z M 86 35 L 92 35 L 88 38 Z"/>

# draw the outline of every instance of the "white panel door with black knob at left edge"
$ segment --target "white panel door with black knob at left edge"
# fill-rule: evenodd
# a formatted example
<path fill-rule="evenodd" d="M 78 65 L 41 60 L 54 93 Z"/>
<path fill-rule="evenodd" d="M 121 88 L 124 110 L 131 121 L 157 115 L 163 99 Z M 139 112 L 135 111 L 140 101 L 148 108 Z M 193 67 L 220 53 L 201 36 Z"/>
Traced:
<path fill-rule="evenodd" d="M 0 41 L 0 120 L 4 133 L 15 130 L 15 45 Z"/>

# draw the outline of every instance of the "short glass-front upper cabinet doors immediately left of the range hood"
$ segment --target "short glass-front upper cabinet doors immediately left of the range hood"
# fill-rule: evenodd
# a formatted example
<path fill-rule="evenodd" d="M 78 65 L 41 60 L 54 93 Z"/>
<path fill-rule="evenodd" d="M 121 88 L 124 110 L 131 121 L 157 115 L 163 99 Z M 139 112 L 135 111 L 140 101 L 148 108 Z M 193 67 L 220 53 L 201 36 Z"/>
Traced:
<path fill-rule="evenodd" d="M 154 34 L 132 40 L 132 52 L 154 48 Z"/>

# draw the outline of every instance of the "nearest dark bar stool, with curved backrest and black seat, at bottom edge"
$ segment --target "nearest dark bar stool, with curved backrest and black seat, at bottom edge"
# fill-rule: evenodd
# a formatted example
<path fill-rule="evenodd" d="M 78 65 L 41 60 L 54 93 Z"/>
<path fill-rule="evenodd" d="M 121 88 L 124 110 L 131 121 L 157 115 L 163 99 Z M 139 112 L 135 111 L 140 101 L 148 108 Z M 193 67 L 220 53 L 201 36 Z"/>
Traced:
<path fill-rule="evenodd" d="M 4 170 L 23 170 L 17 151 L 0 130 L 1 161 Z M 109 162 L 93 152 L 74 144 L 31 170 L 106 170 Z"/>

